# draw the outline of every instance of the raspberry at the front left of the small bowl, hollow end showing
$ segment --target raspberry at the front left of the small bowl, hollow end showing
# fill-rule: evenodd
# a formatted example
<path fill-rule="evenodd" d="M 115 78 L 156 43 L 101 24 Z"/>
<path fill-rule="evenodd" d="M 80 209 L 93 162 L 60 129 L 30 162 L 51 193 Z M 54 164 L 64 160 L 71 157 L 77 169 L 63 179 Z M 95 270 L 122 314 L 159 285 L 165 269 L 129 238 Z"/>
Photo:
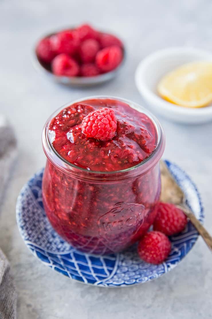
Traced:
<path fill-rule="evenodd" d="M 73 77 L 79 73 L 79 65 L 67 54 L 59 54 L 51 63 L 52 71 L 56 75 Z"/>

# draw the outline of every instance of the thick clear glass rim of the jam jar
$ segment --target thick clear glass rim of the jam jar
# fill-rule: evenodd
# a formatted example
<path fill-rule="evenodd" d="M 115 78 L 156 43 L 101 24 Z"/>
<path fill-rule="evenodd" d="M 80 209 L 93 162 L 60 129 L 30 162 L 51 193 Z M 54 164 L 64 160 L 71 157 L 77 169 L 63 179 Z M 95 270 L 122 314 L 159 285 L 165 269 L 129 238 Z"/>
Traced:
<path fill-rule="evenodd" d="M 50 136 L 49 136 L 49 125 L 52 121 L 52 119 L 58 115 L 58 113 L 60 111 L 62 111 L 64 108 L 75 104 L 75 103 L 79 103 L 79 102 L 83 102 L 85 100 L 91 100 L 91 99 L 113 99 L 113 100 L 119 100 L 121 102 L 125 102 L 127 103 L 131 108 L 136 109 L 138 112 L 143 113 L 145 115 L 147 115 L 150 120 L 153 122 L 154 127 L 156 129 L 157 132 L 157 145 L 154 149 L 154 151 L 151 153 L 150 156 L 148 156 L 145 160 L 141 161 L 139 164 L 134 165 L 132 167 L 128 167 L 126 169 L 122 169 L 119 171 L 110 171 L 110 172 L 103 172 L 103 171 L 93 171 L 93 170 L 87 170 L 85 168 L 79 167 L 77 165 L 74 165 L 68 161 L 66 161 L 62 156 L 60 156 L 60 154 L 54 149 L 51 141 L 50 141 Z M 88 173 L 88 174 L 97 174 L 97 175 L 111 175 L 111 174 L 120 174 L 120 173 L 127 173 L 127 172 L 132 172 L 133 170 L 136 170 L 136 168 L 139 167 L 143 167 L 144 171 L 146 172 L 147 170 L 151 169 L 151 167 L 153 167 L 161 158 L 164 148 L 165 148 L 165 135 L 164 135 L 164 130 L 160 124 L 160 122 L 157 120 L 157 118 L 151 113 L 149 112 L 146 108 L 140 106 L 139 104 L 131 101 L 131 100 L 127 100 L 124 98 L 120 98 L 120 97 L 116 97 L 116 96 L 110 96 L 110 95 L 94 95 L 94 96 L 88 96 L 85 98 L 80 98 L 77 100 L 74 100 L 72 102 L 66 103 L 65 105 L 63 105 L 62 107 L 58 108 L 54 113 L 51 114 L 51 116 L 48 118 L 48 120 L 45 122 L 43 131 L 42 131 L 42 145 L 43 145 L 43 149 L 44 149 L 44 153 L 46 155 L 46 157 L 48 159 L 51 160 L 51 162 L 53 162 L 58 168 L 65 170 L 66 172 L 69 169 L 75 169 L 78 170 L 79 172 L 84 172 L 84 173 Z M 154 160 L 156 157 L 156 154 L 158 154 L 158 160 Z M 53 158 L 56 155 L 56 158 Z M 147 167 L 147 164 L 150 163 L 151 161 L 155 162 L 153 163 L 153 165 L 150 165 Z M 70 171 L 70 173 L 72 173 Z"/>

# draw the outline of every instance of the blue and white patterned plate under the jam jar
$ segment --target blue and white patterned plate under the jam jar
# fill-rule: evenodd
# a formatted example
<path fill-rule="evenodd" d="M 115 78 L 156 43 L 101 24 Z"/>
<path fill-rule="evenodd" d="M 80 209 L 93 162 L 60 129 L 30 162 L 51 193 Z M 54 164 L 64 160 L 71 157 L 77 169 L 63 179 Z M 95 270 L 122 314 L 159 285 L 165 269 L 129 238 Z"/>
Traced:
<path fill-rule="evenodd" d="M 187 174 L 166 161 L 169 170 L 183 189 L 187 204 L 203 222 L 200 196 Z M 43 169 L 22 188 L 17 199 L 17 224 L 25 244 L 42 263 L 65 276 L 95 286 L 118 287 L 140 284 L 167 273 L 186 256 L 198 233 L 189 222 L 183 233 L 171 236 L 171 254 L 160 265 L 143 262 L 136 245 L 113 255 L 96 256 L 82 253 L 65 242 L 50 225 L 42 203 Z"/>

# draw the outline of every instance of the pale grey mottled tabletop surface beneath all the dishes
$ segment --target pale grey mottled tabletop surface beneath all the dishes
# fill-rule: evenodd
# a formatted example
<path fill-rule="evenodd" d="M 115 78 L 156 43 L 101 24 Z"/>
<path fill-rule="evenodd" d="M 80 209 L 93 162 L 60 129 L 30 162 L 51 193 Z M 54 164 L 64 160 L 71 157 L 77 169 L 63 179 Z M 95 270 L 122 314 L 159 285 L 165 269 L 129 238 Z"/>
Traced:
<path fill-rule="evenodd" d="M 209 0 L 0 1 L 0 113 L 14 126 L 19 145 L 0 214 L 0 245 L 14 273 L 19 319 L 212 317 L 212 255 L 201 238 L 166 276 L 139 286 L 106 289 L 71 281 L 41 264 L 26 248 L 15 219 L 19 190 L 45 165 L 41 130 L 47 117 L 68 101 L 94 94 L 144 104 L 134 85 L 139 61 L 158 48 L 175 45 L 212 51 L 211 14 Z M 35 40 L 52 29 L 84 21 L 122 36 L 128 52 L 122 74 L 92 89 L 51 83 L 32 67 Z M 159 119 L 167 137 L 164 158 L 178 163 L 198 185 L 205 226 L 212 233 L 212 123 L 186 126 Z"/>

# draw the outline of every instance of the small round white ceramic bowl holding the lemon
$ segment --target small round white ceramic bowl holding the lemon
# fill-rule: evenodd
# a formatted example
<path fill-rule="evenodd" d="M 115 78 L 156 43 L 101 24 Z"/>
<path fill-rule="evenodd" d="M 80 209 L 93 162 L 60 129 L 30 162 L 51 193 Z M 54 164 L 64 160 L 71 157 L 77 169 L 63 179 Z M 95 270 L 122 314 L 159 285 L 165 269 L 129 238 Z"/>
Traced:
<path fill-rule="evenodd" d="M 211 60 L 207 51 L 177 47 L 159 50 L 143 59 L 135 72 L 135 83 L 152 112 L 181 123 L 212 121 L 212 104 L 203 108 L 184 108 L 163 100 L 156 91 L 160 79 L 174 68 L 192 61 Z"/>

